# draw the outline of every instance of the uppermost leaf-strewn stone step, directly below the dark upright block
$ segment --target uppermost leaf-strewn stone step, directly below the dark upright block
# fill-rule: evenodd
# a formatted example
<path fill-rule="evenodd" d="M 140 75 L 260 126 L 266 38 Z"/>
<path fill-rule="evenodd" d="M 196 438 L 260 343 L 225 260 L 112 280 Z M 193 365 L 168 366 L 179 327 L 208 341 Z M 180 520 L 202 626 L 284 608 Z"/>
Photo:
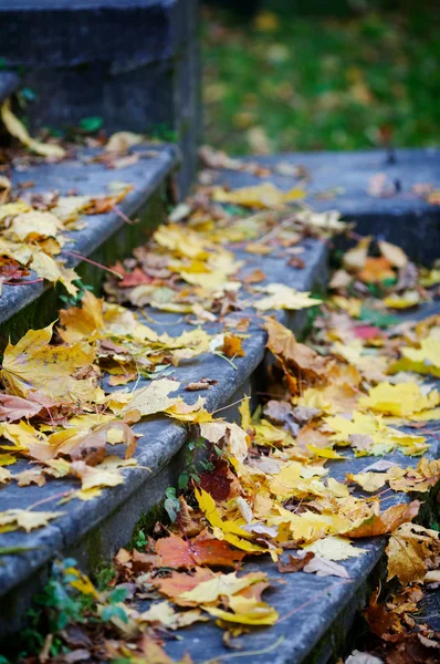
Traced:
<path fill-rule="evenodd" d="M 12 170 L 11 179 L 17 187 L 21 183 L 33 183 L 24 193 L 65 196 L 72 190 L 78 196 L 111 195 L 108 188 L 115 180 L 132 185 L 132 191 L 119 203 L 117 209 L 103 215 L 84 217 L 86 227 L 65 232 L 71 242 L 63 248 L 66 266 L 76 268 L 84 283 L 96 292 L 106 272 L 78 257 L 77 252 L 102 264 L 109 266 L 130 255 L 166 216 L 170 181 L 179 163 L 179 152 L 172 145 L 142 145 L 132 153 L 145 153 L 137 162 L 124 168 L 107 168 L 93 162 L 98 151 L 80 149 L 72 159 L 59 164 L 39 163 L 25 169 Z M 34 281 L 31 273 L 19 286 L 3 284 L 0 300 L 0 350 L 8 339 L 17 341 L 29 329 L 42 328 L 56 318 L 60 299 L 49 282 Z M 57 289 L 60 291 L 60 289 Z"/>

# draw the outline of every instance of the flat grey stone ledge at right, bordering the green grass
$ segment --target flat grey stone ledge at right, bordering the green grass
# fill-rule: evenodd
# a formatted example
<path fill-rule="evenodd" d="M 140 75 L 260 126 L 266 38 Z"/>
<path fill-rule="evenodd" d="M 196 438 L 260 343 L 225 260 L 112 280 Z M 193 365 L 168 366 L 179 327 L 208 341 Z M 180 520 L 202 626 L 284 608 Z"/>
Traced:
<path fill-rule="evenodd" d="M 233 187 L 259 185 L 270 179 L 282 189 L 292 177 L 281 175 L 297 165 L 296 179 L 314 209 L 337 209 L 356 232 L 395 242 L 416 261 L 432 262 L 440 251 L 440 205 L 429 203 L 428 188 L 440 189 L 440 149 L 371 149 L 350 153 L 293 153 L 244 158 L 272 170 L 269 177 L 249 172 L 214 172 L 217 183 Z M 376 195 L 374 187 L 376 186 Z M 425 194 L 422 194 L 425 190 Z"/>

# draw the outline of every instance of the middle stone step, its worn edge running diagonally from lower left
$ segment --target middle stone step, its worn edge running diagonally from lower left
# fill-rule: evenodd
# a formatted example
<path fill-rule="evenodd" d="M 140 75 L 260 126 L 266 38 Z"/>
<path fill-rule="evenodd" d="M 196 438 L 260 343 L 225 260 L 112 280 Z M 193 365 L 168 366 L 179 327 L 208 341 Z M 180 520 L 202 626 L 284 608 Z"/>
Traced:
<path fill-rule="evenodd" d="M 258 266 L 266 273 L 269 282 L 282 282 L 298 290 L 322 290 L 327 276 L 327 247 L 321 241 L 307 239 L 303 243 L 303 270 L 286 270 L 285 258 L 252 257 L 242 251 L 240 259 L 248 259 L 243 270 L 252 271 Z M 185 329 L 193 329 L 181 322 L 181 317 L 158 312 L 145 308 L 145 313 L 156 321 L 147 324 L 157 331 L 167 331 L 175 336 Z M 245 312 L 243 312 L 245 315 Z M 301 332 L 306 322 L 303 312 L 281 312 L 280 320 Z M 220 332 L 216 324 L 206 326 L 210 333 Z M 185 391 L 185 385 L 203 376 L 214 377 L 213 385 L 203 396 L 206 407 L 217 411 L 235 404 L 221 413 L 222 416 L 238 419 L 238 405 L 245 395 L 254 394 L 258 388 L 259 372 L 264 356 L 265 333 L 258 323 L 251 323 L 249 339 L 243 342 L 244 357 L 234 360 L 237 369 L 221 357 L 205 354 L 195 360 L 181 363 L 175 369 L 172 376 L 181 382 L 180 394 L 188 403 L 196 401 L 197 393 Z M 139 381 L 138 386 L 146 383 Z M 142 468 L 124 470 L 125 483 L 104 490 L 102 496 L 92 501 L 72 500 L 61 508 L 57 500 L 64 491 L 75 486 L 73 480 L 61 479 L 50 481 L 43 487 L 29 486 L 20 488 L 17 484 L 4 486 L 1 490 L 1 509 L 29 508 L 43 500 L 36 509 L 60 509 L 64 515 L 51 522 L 46 528 L 29 535 L 10 532 L 0 535 L 1 547 L 24 547 L 23 553 L 2 557 L 0 566 L 0 637 L 17 630 L 20 619 L 30 605 L 35 590 L 41 588 L 50 572 L 55 556 L 72 556 L 84 569 L 94 569 L 103 560 L 111 557 L 127 543 L 139 519 L 146 516 L 161 501 L 169 486 L 177 486 L 177 480 L 185 467 L 185 444 L 190 439 L 190 432 L 172 424 L 166 417 L 157 417 L 135 425 L 140 434 L 135 458 Z M 15 464 L 18 471 L 29 467 L 25 460 Z M 147 470 L 148 468 L 148 470 Z M 77 484 L 76 484 L 77 486 Z"/>

